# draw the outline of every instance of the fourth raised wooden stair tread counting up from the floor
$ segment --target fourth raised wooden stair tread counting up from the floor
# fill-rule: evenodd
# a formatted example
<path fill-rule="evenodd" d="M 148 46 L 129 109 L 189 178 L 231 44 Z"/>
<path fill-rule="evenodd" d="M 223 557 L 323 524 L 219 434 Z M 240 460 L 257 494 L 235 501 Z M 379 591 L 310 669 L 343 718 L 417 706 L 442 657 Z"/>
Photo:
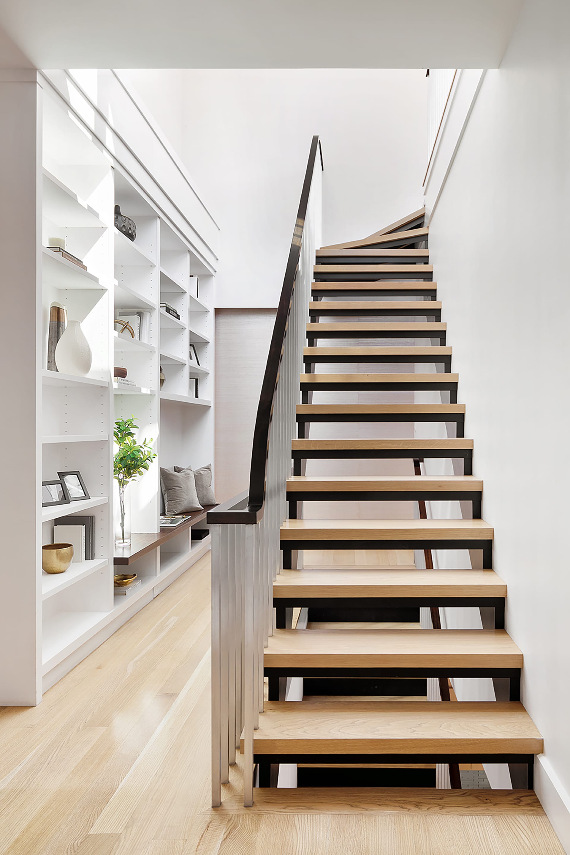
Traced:
<path fill-rule="evenodd" d="M 492 540 L 485 520 L 285 520 L 281 540 Z"/>

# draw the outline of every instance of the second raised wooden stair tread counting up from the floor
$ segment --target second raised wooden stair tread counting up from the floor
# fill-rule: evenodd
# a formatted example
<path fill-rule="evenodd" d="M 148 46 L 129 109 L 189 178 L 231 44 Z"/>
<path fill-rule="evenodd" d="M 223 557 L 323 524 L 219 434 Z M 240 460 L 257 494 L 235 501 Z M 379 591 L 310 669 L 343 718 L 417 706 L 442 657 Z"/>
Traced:
<path fill-rule="evenodd" d="M 504 629 L 274 629 L 266 668 L 521 668 Z"/>

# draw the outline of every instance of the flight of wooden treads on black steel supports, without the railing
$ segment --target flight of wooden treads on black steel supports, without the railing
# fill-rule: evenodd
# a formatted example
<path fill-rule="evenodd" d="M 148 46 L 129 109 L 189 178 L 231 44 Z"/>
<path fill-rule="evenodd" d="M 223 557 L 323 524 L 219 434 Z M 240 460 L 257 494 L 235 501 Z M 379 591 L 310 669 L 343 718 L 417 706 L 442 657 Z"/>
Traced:
<path fill-rule="evenodd" d="M 273 584 L 277 628 L 263 657 L 269 702 L 254 734 L 260 786 L 272 780 L 271 764 L 299 764 L 299 772 L 320 769 L 321 775 L 308 778 L 305 773 L 300 780 L 322 786 L 328 776 L 329 784 L 342 787 L 358 781 L 359 773 L 361 782 L 374 781 L 372 769 L 381 769 L 384 774 L 378 772 L 376 780 L 388 785 L 420 786 L 426 764 L 502 762 L 525 763 L 528 786 L 532 787 L 532 762 L 542 751 L 542 740 L 520 704 L 522 653 L 504 629 L 507 589 L 492 570 L 493 529 L 481 519 L 483 481 L 471 474 L 473 442 L 463 439 L 465 408 L 457 404 L 459 376 L 451 373 L 452 351 L 446 346 L 447 331 L 441 322 L 442 305 L 436 299 L 437 285 L 432 282 L 427 239 L 423 212 L 416 211 L 382 235 L 352 242 L 350 248 L 326 247 L 316 253 L 308 346 L 303 351 L 308 373 L 301 374 L 303 403 L 297 406 L 300 439 L 292 443 L 295 474 L 287 480 L 289 519 L 281 528 L 284 569 Z M 391 299 L 394 295 L 397 302 Z M 370 342 L 356 347 L 325 346 L 329 339 L 337 338 Z M 435 339 L 438 344 L 391 344 L 391 339 L 399 338 Z M 347 373 L 316 373 L 318 366 L 327 363 L 346 365 Z M 355 363 L 378 363 L 379 372 L 350 373 Z M 403 363 L 435 363 L 443 370 L 385 373 L 392 364 L 399 367 Z M 378 403 L 312 403 L 314 392 L 349 395 L 363 390 L 378 392 Z M 449 403 L 382 402 L 382 392 L 396 390 L 437 390 Z M 455 422 L 456 437 L 398 439 L 395 431 L 393 439 L 357 439 L 355 431 L 354 439 L 307 438 L 311 422 L 432 420 Z M 312 459 L 373 457 L 461 457 L 464 474 L 302 474 Z M 410 499 L 466 500 L 473 518 L 297 518 L 303 507 L 300 503 Z M 297 551 L 412 548 L 478 550 L 484 569 L 293 569 L 292 563 Z M 491 606 L 495 628 L 381 628 L 383 620 L 393 622 L 400 612 L 400 621 L 405 622 L 410 611 L 422 606 Z M 316 621 L 324 628 L 287 628 L 295 608 L 309 610 L 309 626 Z M 338 628 L 334 628 L 335 622 Z M 359 623 L 360 628 L 355 628 Z M 405 695 L 401 681 L 406 679 L 441 676 L 507 677 L 510 700 L 354 699 L 365 694 L 363 683 L 376 685 L 381 698 L 386 693 Z M 311 681 L 310 686 L 320 683 L 319 694 L 310 696 L 310 702 L 285 701 L 287 677 L 303 677 Z M 398 687 L 390 687 L 386 678 Z M 402 776 L 403 764 L 408 766 L 407 778 Z M 391 775 L 388 765 L 397 771 Z"/>

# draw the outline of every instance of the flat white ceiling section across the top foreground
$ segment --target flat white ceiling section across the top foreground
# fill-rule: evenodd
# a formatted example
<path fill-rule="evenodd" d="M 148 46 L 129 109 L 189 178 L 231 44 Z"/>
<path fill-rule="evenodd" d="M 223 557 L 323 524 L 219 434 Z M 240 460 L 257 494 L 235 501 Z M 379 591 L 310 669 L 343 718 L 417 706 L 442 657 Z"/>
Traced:
<path fill-rule="evenodd" d="M 520 2 L 0 0 L 0 25 L 38 68 L 496 68 Z"/>

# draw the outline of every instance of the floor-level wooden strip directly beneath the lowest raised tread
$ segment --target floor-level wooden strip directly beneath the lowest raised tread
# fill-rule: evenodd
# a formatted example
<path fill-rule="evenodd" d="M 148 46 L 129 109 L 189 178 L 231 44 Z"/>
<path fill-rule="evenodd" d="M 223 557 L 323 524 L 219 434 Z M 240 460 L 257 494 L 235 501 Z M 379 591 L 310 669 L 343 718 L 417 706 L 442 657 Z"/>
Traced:
<path fill-rule="evenodd" d="M 218 814 L 420 814 L 458 817 L 542 817 L 533 790 L 438 790 L 432 787 L 263 787 L 253 807 L 241 793 L 224 797 Z M 415 850 L 417 851 L 417 850 Z"/>

